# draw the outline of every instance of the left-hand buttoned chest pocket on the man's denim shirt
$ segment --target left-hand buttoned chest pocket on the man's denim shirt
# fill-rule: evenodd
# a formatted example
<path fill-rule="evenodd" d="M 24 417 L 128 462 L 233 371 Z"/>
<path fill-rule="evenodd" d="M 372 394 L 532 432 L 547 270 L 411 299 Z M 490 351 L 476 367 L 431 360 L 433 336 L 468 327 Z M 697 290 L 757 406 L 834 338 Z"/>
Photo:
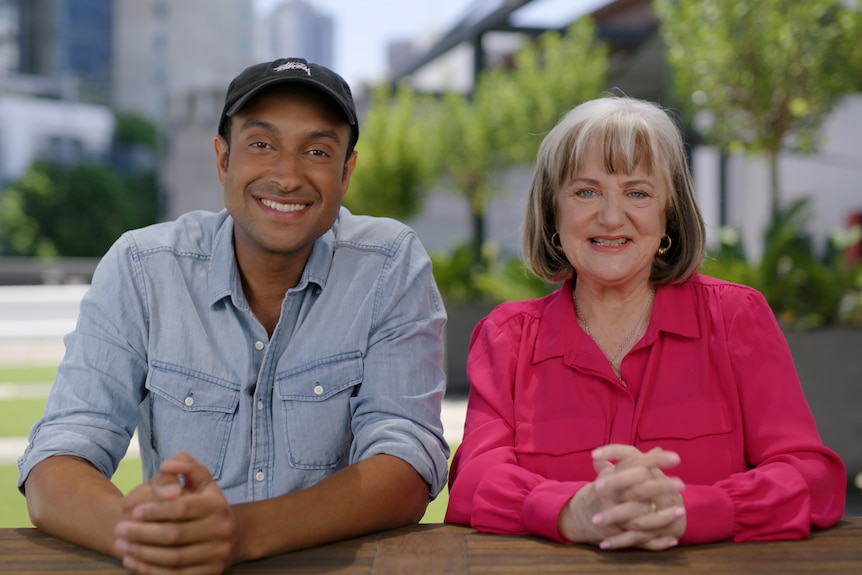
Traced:
<path fill-rule="evenodd" d="M 152 367 L 146 384 L 150 444 L 160 460 L 185 451 L 219 479 L 239 405 L 239 386 L 161 362 L 153 362 Z"/>

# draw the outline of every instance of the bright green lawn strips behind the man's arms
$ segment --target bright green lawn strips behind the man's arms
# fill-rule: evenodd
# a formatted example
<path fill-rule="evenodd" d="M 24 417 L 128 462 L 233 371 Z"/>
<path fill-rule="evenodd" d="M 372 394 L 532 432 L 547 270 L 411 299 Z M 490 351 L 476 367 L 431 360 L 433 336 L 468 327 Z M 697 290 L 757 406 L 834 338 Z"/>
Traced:
<path fill-rule="evenodd" d="M 56 368 L 4 368 L 0 367 L 0 383 L 44 383 L 53 381 Z M 0 437 L 26 437 L 33 422 L 42 414 L 44 399 L 0 400 Z M 452 445 L 452 453 L 457 446 Z M 451 460 L 450 460 L 451 462 Z M 141 462 L 125 459 L 120 463 L 112 481 L 123 492 L 141 482 Z M 18 468 L 15 464 L 0 465 L 0 527 L 30 527 L 24 497 L 18 492 Z M 442 523 L 449 501 L 444 489 L 428 506 L 422 523 Z"/>

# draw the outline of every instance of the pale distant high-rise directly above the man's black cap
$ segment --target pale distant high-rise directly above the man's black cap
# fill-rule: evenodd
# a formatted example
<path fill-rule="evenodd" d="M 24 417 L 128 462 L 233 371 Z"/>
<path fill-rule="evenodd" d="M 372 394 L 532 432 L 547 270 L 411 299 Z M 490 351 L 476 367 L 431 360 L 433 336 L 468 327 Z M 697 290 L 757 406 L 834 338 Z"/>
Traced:
<path fill-rule="evenodd" d="M 293 56 L 333 67 L 332 18 L 305 0 L 278 5 L 260 28 L 261 60 Z"/>

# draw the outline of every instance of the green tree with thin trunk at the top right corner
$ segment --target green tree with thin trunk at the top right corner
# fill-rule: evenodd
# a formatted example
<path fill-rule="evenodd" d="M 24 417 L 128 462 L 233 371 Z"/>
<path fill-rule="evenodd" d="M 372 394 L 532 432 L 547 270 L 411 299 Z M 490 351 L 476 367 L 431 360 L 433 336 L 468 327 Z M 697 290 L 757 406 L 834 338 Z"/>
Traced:
<path fill-rule="evenodd" d="M 711 116 L 704 136 L 762 153 L 772 219 L 780 213 L 778 154 L 816 149 L 823 121 L 860 88 L 858 0 L 655 0 L 679 98 Z"/>

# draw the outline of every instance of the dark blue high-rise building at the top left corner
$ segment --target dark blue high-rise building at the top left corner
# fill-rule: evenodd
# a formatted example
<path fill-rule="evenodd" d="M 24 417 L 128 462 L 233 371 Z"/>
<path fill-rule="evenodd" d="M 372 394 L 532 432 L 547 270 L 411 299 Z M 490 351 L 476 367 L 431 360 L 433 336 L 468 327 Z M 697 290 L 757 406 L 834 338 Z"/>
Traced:
<path fill-rule="evenodd" d="M 114 0 L 22 0 L 19 71 L 65 81 L 74 79 L 77 99 L 111 99 Z"/>

